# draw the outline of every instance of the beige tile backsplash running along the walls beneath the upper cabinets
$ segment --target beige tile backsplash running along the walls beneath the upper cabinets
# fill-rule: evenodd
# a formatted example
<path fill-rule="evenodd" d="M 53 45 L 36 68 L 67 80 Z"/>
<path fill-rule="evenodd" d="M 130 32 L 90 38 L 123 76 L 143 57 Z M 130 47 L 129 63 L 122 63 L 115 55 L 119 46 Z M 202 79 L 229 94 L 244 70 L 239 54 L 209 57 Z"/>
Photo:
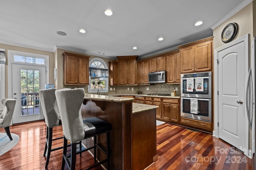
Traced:
<path fill-rule="evenodd" d="M 84 88 L 84 91 L 88 93 L 88 86 L 64 85 L 64 88 Z M 111 91 L 110 91 L 110 88 L 112 88 Z M 109 86 L 108 92 L 106 93 L 101 92 L 100 94 L 102 95 L 104 94 L 105 95 L 106 94 L 137 94 L 137 89 L 140 90 L 142 94 L 171 94 L 171 88 L 174 88 L 174 90 L 178 88 L 178 90 L 176 91 L 176 94 L 177 96 L 180 96 L 180 84 L 166 84 L 166 83 L 137 85 L 137 86 Z M 96 94 L 96 93 L 92 93 L 92 94 Z"/>

